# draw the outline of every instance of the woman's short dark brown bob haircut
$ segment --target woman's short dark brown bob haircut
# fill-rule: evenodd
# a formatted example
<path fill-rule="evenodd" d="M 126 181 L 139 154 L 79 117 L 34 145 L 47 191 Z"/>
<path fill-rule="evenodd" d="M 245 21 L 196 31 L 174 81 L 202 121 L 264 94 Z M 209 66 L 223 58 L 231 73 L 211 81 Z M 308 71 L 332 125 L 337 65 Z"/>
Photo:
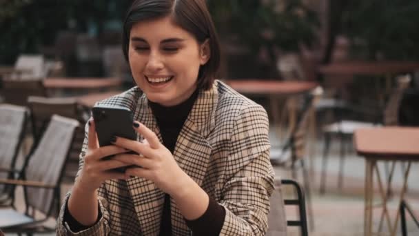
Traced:
<path fill-rule="evenodd" d="M 123 53 L 129 61 L 130 32 L 140 21 L 172 17 L 174 23 L 194 35 L 198 43 L 209 39 L 210 59 L 199 68 L 198 88 L 212 87 L 220 67 L 221 52 L 214 23 L 205 0 L 136 0 L 132 3 L 123 23 Z M 187 66 L 187 65 L 185 65 Z"/>

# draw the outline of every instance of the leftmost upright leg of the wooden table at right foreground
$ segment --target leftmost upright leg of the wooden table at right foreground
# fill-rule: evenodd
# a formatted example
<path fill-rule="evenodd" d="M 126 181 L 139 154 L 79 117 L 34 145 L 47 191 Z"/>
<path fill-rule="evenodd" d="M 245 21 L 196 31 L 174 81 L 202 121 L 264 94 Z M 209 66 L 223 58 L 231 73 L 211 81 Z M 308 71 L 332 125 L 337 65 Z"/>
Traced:
<path fill-rule="evenodd" d="M 364 235 L 372 234 L 372 199 L 374 197 L 373 191 L 373 170 L 376 161 L 365 159 L 365 212 L 364 212 Z"/>

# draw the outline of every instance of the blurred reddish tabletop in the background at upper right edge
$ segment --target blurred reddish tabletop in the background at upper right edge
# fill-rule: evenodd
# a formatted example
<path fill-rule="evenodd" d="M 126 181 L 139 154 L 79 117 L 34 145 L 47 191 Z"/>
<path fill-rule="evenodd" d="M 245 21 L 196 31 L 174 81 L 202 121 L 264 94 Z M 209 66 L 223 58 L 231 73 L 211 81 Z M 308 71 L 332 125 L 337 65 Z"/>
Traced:
<path fill-rule="evenodd" d="M 387 75 L 419 70 L 419 61 L 342 61 L 320 66 L 323 75 Z"/>

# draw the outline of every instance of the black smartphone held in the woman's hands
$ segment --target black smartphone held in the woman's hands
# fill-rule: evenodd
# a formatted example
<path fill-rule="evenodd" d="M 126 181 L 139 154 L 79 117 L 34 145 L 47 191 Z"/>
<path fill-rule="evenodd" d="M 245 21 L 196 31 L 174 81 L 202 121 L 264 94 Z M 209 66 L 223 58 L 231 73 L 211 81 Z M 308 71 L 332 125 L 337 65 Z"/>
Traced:
<path fill-rule="evenodd" d="M 93 119 L 99 146 L 112 145 L 114 136 L 136 140 L 136 131 L 132 127 L 134 115 L 132 111 L 123 106 L 97 105 L 92 108 Z M 134 153 L 134 152 L 130 152 Z M 105 159 L 112 158 L 104 157 Z M 125 173 L 130 166 L 115 168 L 114 170 Z"/>

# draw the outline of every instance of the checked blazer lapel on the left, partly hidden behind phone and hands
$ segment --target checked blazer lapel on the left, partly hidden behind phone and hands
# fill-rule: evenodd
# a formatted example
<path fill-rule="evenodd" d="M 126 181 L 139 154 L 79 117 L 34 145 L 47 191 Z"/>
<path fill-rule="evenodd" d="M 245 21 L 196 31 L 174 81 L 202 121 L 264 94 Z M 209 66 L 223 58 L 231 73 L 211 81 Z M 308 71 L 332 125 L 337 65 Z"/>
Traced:
<path fill-rule="evenodd" d="M 134 112 L 134 120 L 140 121 L 159 137 L 161 134 L 156 119 L 148 105 L 145 95 L 139 98 Z M 143 137 L 137 137 L 138 140 Z M 143 235 L 157 235 L 160 229 L 161 213 L 163 210 L 164 193 L 147 179 L 132 177 L 127 180 L 136 215 L 139 218 Z"/>

